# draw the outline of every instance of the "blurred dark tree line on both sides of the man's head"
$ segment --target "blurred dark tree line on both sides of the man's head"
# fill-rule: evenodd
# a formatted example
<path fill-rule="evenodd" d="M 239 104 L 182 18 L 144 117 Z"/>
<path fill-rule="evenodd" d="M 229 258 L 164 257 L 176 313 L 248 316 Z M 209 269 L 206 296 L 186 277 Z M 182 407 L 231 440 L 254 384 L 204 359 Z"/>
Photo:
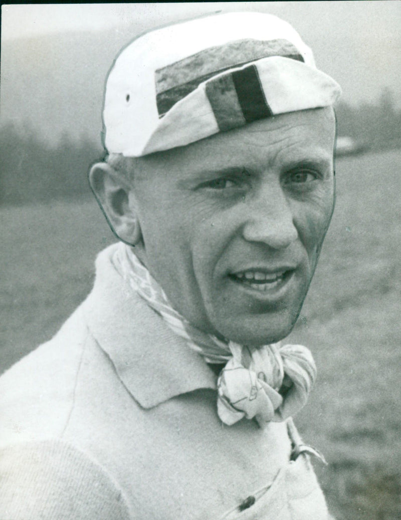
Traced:
<path fill-rule="evenodd" d="M 370 150 L 401 147 L 401 109 L 390 89 L 376 103 L 357 107 L 341 102 L 336 108 L 338 135 L 350 136 Z M 50 146 L 29 125 L 0 128 L 0 202 L 21 204 L 89 195 L 87 171 L 102 157 L 100 145 L 87 136 L 63 133 Z"/>

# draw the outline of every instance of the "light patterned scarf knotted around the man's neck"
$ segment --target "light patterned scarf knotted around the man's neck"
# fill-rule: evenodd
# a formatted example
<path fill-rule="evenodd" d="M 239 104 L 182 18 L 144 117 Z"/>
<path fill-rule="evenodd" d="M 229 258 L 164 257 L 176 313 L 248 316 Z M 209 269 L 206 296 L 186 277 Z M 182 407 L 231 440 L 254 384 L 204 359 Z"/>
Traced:
<path fill-rule="evenodd" d="M 316 379 L 308 348 L 274 343 L 262 347 L 221 341 L 193 327 L 172 308 L 158 282 L 133 249 L 120 242 L 113 264 L 131 288 L 154 309 L 188 346 L 208 363 L 226 363 L 217 379 L 217 412 L 228 425 L 243 417 L 262 425 L 283 421 L 300 410 Z"/>

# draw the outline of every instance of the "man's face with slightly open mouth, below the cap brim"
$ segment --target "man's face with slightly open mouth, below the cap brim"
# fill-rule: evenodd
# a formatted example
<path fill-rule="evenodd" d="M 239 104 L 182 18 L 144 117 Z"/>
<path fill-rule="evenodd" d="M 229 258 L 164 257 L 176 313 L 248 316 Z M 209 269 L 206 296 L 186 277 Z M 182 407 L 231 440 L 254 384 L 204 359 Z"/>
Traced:
<path fill-rule="evenodd" d="M 192 324 L 289 334 L 331 219 L 334 132 L 330 108 L 293 112 L 137 161 L 141 258 Z"/>

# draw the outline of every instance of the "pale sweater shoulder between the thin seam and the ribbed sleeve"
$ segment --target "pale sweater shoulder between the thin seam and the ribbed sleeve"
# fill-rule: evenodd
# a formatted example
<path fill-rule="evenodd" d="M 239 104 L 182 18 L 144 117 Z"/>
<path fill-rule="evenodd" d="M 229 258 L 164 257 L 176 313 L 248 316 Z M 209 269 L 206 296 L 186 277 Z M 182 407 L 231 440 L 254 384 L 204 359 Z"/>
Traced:
<path fill-rule="evenodd" d="M 58 436 L 71 409 L 80 363 L 90 342 L 81 308 L 47 343 L 0 378 L 0 446 Z"/>

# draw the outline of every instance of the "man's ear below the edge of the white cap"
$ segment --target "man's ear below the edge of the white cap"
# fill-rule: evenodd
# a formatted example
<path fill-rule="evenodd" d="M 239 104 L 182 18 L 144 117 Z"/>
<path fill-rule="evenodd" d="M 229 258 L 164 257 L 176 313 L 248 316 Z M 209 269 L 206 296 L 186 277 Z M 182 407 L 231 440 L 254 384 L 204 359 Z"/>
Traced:
<path fill-rule="evenodd" d="M 141 239 L 133 187 L 124 174 L 107 163 L 90 168 L 89 184 L 114 235 L 131 245 Z"/>

